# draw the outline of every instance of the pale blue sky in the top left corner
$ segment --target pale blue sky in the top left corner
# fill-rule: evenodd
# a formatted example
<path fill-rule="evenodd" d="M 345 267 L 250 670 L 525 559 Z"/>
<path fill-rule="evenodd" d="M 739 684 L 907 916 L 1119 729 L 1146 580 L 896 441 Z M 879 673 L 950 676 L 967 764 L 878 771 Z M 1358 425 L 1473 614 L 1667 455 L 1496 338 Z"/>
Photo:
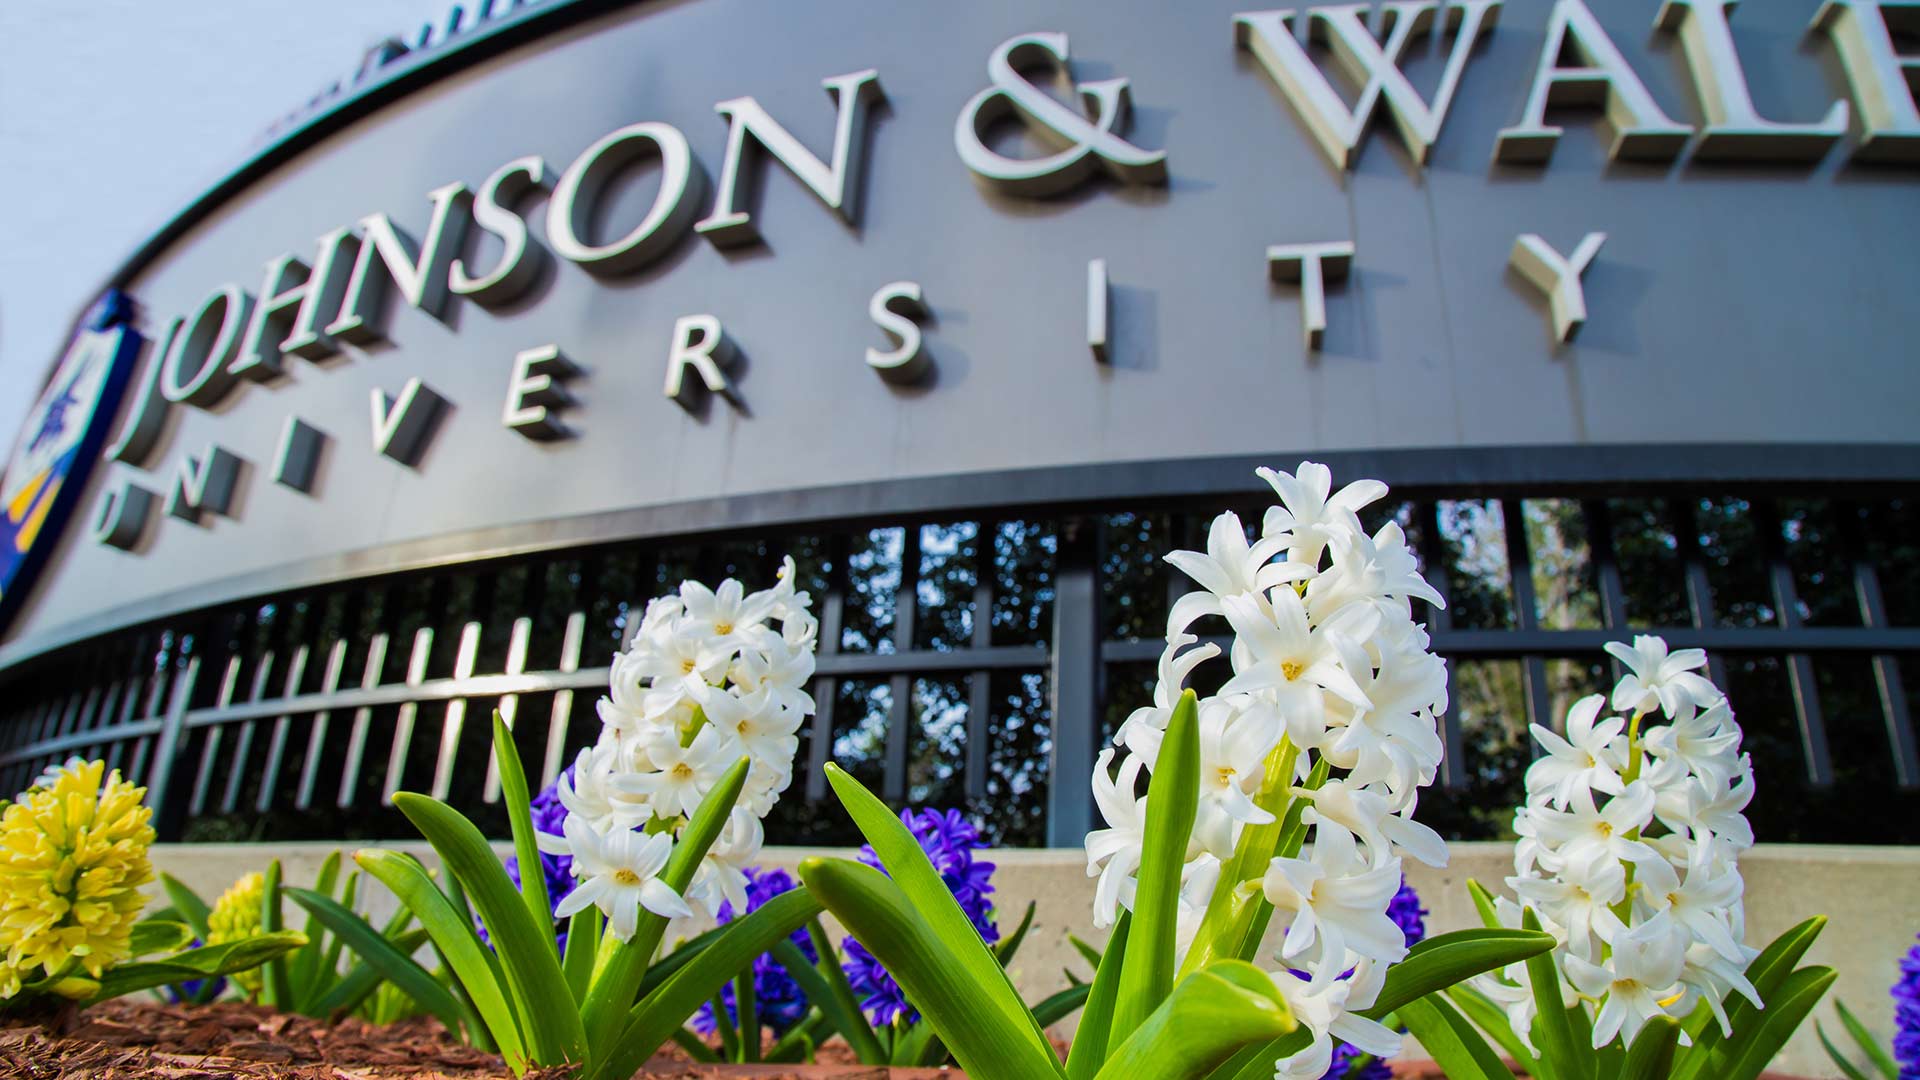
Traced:
<path fill-rule="evenodd" d="M 0 446 L 73 315 L 276 117 L 447 0 L 0 4 Z"/>

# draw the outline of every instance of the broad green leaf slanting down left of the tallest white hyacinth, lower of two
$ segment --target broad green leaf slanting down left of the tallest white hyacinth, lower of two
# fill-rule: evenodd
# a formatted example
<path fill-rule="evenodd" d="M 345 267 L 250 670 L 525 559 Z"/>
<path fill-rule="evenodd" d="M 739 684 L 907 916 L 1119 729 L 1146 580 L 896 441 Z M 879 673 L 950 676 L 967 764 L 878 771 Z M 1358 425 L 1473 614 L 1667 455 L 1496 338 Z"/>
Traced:
<path fill-rule="evenodd" d="M 885 807 L 879 809 L 885 815 Z M 895 826 L 900 824 L 893 815 L 885 817 Z M 887 838 L 877 828 L 870 832 L 870 838 L 876 834 Z M 912 842 L 910 836 L 908 842 L 914 851 L 920 851 L 918 842 Z M 874 844 L 874 847 L 879 849 L 881 844 Z M 881 859 L 889 857 L 895 863 L 904 863 L 897 853 L 881 851 Z M 920 859 L 925 861 L 925 853 Z M 925 871 L 933 874 L 931 865 Z M 929 924 L 933 905 L 910 896 L 899 878 L 887 878 L 851 859 L 804 859 L 801 861 L 801 880 L 868 951 L 887 965 L 900 990 L 933 1024 L 968 1076 L 973 1080 L 1033 1080 L 1035 1076 L 1062 1074 L 1052 1045 L 1041 1036 L 1025 1003 L 1014 999 L 1020 1009 L 1018 1019 L 1010 1017 L 1004 1007 L 996 1007 L 995 992 L 1000 988 L 1012 992 L 1012 988 L 1006 986 L 1006 974 L 1000 965 L 993 963 L 993 955 L 987 953 L 987 945 L 981 944 L 972 926 L 968 926 L 972 942 L 962 940 L 960 944 L 972 945 L 975 959 L 991 967 L 1000 986 L 981 978 L 979 963 L 968 965 L 960 959 L 952 944 L 954 934 L 935 932 Z M 933 880 L 939 882 L 939 876 L 935 874 Z M 925 882 L 920 884 L 925 892 Z M 952 894 L 945 886 L 935 884 L 935 888 L 952 905 Z M 958 907 L 954 911 L 958 913 Z"/>

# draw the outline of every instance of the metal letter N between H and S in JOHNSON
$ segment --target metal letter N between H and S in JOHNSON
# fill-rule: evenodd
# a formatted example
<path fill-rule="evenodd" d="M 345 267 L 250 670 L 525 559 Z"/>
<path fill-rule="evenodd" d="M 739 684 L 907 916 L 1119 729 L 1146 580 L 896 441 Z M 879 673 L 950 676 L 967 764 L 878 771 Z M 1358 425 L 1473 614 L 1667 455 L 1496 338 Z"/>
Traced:
<path fill-rule="evenodd" d="M 359 227 L 365 236 L 353 259 L 353 277 L 348 279 L 348 298 L 340 306 L 340 317 L 326 327 L 328 334 L 353 344 L 386 340 L 386 332 L 374 325 L 384 296 L 384 288 L 372 277 L 376 256 L 386 267 L 386 281 L 394 282 L 411 307 L 440 317 L 447 302 L 447 263 L 461 250 L 474 196 L 467 184 L 455 181 L 426 192 L 426 198 L 434 204 L 434 215 L 419 252 L 392 217 L 384 213 L 361 217 Z"/>

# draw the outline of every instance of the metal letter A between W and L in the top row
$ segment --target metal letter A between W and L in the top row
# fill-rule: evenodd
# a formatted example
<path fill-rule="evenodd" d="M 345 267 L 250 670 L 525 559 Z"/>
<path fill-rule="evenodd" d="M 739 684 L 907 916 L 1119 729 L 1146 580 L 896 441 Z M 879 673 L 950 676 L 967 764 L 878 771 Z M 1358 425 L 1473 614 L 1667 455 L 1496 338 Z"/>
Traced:
<path fill-rule="evenodd" d="M 1569 46 L 1580 67 L 1559 65 L 1561 50 Z M 1501 129 L 1494 140 L 1494 160 L 1544 165 L 1565 131 L 1548 123 L 1548 106 L 1597 104 L 1607 106 L 1607 119 L 1613 123 L 1609 160 L 1670 161 L 1693 135 L 1692 127 L 1661 111 L 1584 0 L 1557 0 L 1548 19 L 1548 40 L 1540 46 L 1540 67 L 1526 92 L 1526 110 L 1519 125 Z"/>

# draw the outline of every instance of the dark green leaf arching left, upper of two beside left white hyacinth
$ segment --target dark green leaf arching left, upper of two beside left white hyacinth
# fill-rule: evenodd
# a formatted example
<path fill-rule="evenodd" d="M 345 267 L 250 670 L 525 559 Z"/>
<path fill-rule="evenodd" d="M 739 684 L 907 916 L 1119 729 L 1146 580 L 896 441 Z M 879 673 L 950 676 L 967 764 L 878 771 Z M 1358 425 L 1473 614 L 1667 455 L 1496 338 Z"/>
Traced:
<path fill-rule="evenodd" d="M 566 976 L 561 974 L 561 957 L 553 951 L 553 922 L 534 922 L 486 836 L 457 809 L 413 792 L 396 794 L 394 805 L 426 836 L 447 874 L 467 888 L 480 909 L 480 920 L 486 922 L 507 972 L 507 988 L 518 1003 L 534 1061 L 586 1061 L 588 1040 L 574 995 L 566 990 Z"/>

